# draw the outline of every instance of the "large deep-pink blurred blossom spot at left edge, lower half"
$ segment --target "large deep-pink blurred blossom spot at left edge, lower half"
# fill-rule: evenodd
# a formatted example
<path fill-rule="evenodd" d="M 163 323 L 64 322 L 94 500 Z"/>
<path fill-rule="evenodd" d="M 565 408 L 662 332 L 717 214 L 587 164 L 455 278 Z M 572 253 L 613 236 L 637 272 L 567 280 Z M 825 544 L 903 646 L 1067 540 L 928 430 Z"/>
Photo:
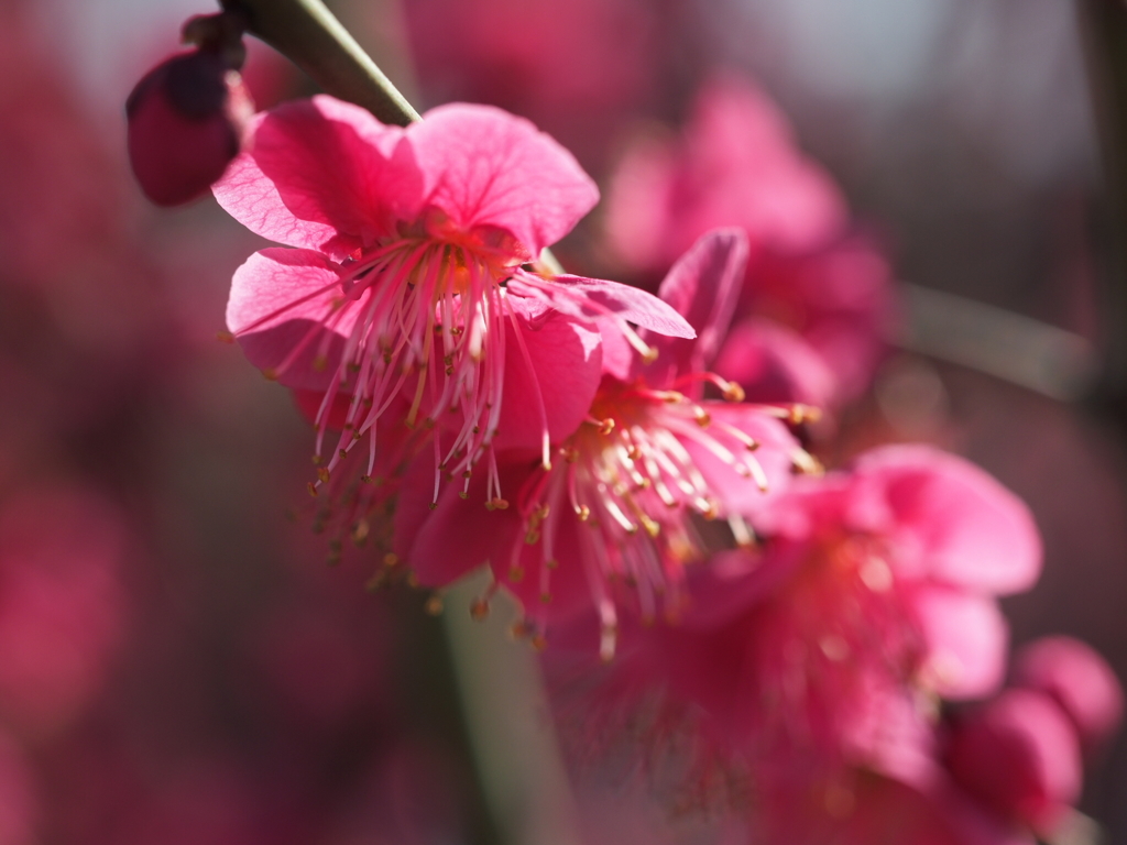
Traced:
<path fill-rule="evenodd" d="M 96 493 L 42 488 L 0 505 L 0 715 L 70 723 L 97 693 L 124 611 L 125 531 Z"/>

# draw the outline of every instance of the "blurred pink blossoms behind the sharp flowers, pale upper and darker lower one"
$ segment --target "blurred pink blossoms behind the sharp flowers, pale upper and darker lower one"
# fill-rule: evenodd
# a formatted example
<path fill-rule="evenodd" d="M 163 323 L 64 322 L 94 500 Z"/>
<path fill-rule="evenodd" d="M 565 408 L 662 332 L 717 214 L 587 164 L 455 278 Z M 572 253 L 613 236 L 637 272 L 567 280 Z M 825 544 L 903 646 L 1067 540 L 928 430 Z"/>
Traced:
<path fill-rule="evenodd" d="M 606 233 L 629 268 L 651 275 L 703 231 L 742 228 L 752 256 L 717 372 L 755 401 L 832 410 L 868 386 L 895 305 L 887 260 L 849 233 L 848 217 L 841 192 L 798 150 L 766 95 L 715 77 L 680 137 L 629 149 Z"/>

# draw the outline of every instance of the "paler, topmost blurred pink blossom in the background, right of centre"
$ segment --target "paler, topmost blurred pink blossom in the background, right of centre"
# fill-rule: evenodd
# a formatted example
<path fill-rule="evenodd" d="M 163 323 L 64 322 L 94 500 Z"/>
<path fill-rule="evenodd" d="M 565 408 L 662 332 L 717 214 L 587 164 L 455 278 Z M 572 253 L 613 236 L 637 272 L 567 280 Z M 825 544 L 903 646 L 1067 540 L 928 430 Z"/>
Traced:
<path fill-rule="evenodd" d="M 770 98 L 736 75 L 711 78 L 678 139 L 628 150 L 606 201 L 606 234 L 628 266 L 658 272 L 709 229 L 739 226 L 755 258 L 804 252 L 846 229 L 825 169 L 798 149 Z"/>

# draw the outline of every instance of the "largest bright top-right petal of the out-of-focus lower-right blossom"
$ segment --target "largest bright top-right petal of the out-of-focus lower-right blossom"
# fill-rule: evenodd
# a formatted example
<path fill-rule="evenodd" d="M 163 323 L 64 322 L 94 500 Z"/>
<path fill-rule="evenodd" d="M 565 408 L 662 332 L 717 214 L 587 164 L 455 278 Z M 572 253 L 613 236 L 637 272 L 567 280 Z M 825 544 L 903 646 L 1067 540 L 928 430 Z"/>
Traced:
<path fill-rule="evenodd" d="M 884 530 L 914 551 L 921 573 L 995 594 L 1028 589 L 1040 575 L 1029 508 L 968 461 L 928 446 L 886 446 L 858 460 L 855 479 L 854 519 L 891 521 Z"/>

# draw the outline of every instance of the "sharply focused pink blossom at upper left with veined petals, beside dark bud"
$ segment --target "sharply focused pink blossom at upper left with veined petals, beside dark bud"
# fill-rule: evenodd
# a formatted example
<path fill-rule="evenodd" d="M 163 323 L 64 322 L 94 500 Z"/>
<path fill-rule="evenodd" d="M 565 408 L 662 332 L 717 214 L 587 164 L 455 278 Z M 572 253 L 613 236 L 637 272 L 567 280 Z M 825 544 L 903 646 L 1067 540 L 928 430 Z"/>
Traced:
<path fill-rule="evenodd" d="M 514 370 L 547 465 L 558 391 L 543 375 L 586 368 L 597 379 L 594 320 L 639 348 L 629 323 L 692 336 L 645 292 L 525 269 L 598 198 L 575 159 L 526 121 L 451 105 L 401 128 L 319 96 L 258 115 L 252 141 L 215 196 L 292 249 L 239 268 L 228 326 L 269 377 L 321 394 L 318 455 L 347 398 L 321 483 L 365 435 L 372 473 L 375 422 L 403 397 L 393 422 L 437 426 L 438 472 L 469 473 L 502 434 Z"/>

